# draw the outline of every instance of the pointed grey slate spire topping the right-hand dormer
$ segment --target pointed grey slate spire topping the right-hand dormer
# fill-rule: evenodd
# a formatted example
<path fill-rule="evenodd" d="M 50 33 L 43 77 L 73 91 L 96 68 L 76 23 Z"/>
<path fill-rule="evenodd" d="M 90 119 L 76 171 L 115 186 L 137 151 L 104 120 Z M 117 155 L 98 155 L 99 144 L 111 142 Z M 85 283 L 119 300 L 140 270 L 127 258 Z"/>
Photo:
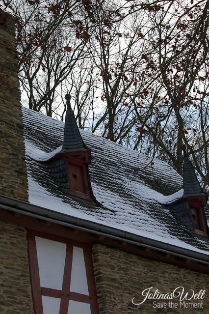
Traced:
<path fill-rule="evenodd" d="M 183 195 L 184 197 L 206 195 L 201 188 L 194 168 L 186 153 L 186 146 L 182 145 L 183 150 Z"/>

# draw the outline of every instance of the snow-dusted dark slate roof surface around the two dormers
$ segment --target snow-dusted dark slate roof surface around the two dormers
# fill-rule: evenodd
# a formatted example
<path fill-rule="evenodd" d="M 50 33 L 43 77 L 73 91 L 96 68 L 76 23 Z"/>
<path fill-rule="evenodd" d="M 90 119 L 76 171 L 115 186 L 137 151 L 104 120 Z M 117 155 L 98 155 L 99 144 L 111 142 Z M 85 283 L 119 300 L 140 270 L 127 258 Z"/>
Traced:
<path fill-rule="evenodd" d="M 45 167 L 45 161 L 62 149 L 64 123 L 26 108 L 22 111 L 30 203 L 208 254 L 209 239 L 192 234 L 169 207 L 183 197 L 183 179 L 168 164 L 80 130 L 91 149 L 89 174 L 99 203 L 68 195 Z"/>

